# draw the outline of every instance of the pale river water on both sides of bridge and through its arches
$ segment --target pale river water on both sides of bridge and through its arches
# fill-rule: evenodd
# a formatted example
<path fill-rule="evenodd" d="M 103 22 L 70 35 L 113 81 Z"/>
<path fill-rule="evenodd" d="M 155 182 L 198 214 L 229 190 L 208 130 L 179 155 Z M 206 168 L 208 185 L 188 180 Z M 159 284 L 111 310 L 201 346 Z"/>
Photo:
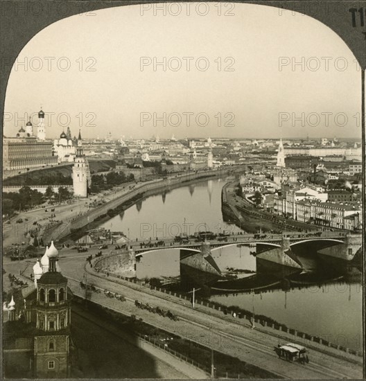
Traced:
<path fill-rule="evenodd" d="M 210 179 L 148 197 L 101 227 L 123 231 L 132 240 L 193 234 L 195 231 L 238 231 L 235 225 L 223 221 L 221 188 L 224 184 L 225 181 Z M 229 246 L 212 249 L 211 253 L 222 272 L 227 267 L 255 272 L 256 258 L 250 255 L 250 250 L 252 248 Z M 176 278 L 179 275 L 179 249 L 153 251 L 144 254 L 137 263 L 138 278 Z M 328 280 L 322 285 L 307 284 L 306 287 L 302 283 L 298 285 L 286 292 L 277 287 L 256 291 L 256 294 L 227 292 L 211 296 L 211 300 L 250 311 L 254 308 L 255 314 L 272 317 L 289 328 L 360 351 L 363 298 L 360 280 L 352 283 L 342 279 Z"/>

